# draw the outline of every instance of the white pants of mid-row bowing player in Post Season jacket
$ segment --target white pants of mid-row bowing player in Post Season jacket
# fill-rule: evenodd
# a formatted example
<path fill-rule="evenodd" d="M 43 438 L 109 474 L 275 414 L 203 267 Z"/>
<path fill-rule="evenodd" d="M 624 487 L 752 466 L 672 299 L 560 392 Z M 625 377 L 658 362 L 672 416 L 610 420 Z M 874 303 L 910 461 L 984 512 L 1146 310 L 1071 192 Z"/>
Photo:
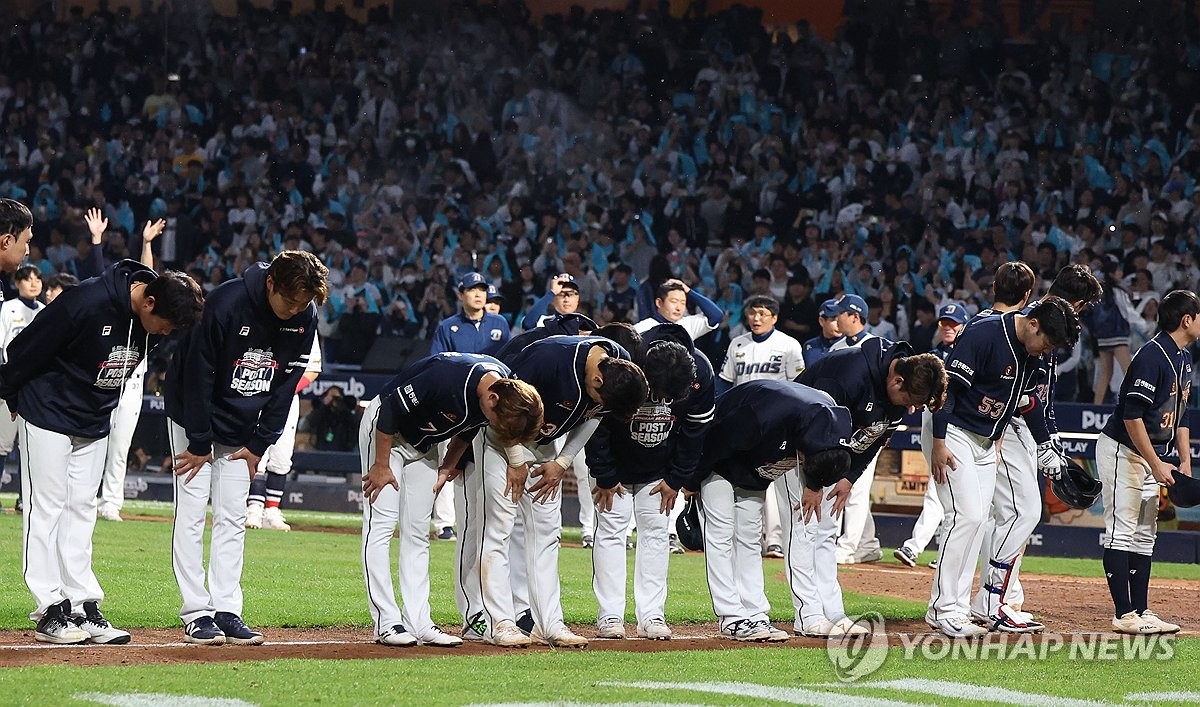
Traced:
<path fill-rule="evenodd" d="M 592 589 L 600 605 L 598 619 L 625 621 L 625 579 L 628 576 L 625 529 L 630 517 L 637 525 L 634 552 L 634 612 L 638 625 L 666 617 L 668 514 L 660 513 L 661 501 L 650 490 L 658 480 L 632 484 L 623 496 L 614 496 L 612 509 L 596 511 L 595 546 L 592 550 Z"/>

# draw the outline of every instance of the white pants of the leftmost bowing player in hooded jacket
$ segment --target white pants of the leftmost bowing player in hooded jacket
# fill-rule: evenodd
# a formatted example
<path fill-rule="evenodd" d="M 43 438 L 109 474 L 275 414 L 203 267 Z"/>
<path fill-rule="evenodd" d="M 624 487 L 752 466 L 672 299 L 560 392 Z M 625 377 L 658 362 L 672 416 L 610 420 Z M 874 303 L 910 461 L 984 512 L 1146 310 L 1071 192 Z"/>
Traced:
<path fill-rule="evenodd" d="M 102 601 L 91 568 L 96 489 L 104 473 L 108 438 L 68 437 L 18 418 L 25 585 L 37 607 L 29 618 L 64 599 L 71 606 Z"/>

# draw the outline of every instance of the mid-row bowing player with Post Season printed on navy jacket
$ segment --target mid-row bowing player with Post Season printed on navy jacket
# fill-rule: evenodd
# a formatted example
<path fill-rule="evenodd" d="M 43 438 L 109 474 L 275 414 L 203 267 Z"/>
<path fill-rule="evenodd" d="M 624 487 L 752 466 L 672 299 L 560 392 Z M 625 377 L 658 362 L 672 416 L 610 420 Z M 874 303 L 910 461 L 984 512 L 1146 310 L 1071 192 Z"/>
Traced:
<path fill-rule="evenodd" d="M 606 418 L 588 441 L 596 489 L 592 588 L 600 605 L 596 637 L 625 637 L 625 532 L 637 526 L 634 611 L 642 639 L 671 637 L 666 623 L 671 509 L 696 472 L 713 420 L 713 365 L 688 331 L 660 324 L 646 332 L 642 370 L 650 396 L 630 420 Z"/>

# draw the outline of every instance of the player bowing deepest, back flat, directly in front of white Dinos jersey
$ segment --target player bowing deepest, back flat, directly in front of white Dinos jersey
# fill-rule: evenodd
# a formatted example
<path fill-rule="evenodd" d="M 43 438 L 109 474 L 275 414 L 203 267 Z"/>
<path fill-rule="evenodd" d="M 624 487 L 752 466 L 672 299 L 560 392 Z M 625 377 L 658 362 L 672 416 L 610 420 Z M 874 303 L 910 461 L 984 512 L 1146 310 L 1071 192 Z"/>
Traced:
<path fill-rule="evenodd" d="M 787 640 L 768 621 L 758 545 L 763 497 L 798 462 L 816 490 L 845 477 L 850 436 L 850 411 L 799 383 L 751 381 L 718 399 L 700 468 L 684 487 L 700 491 L 708 589 L 722 637 Z M 848 493 L 846 484 L 835 511 Z"/>

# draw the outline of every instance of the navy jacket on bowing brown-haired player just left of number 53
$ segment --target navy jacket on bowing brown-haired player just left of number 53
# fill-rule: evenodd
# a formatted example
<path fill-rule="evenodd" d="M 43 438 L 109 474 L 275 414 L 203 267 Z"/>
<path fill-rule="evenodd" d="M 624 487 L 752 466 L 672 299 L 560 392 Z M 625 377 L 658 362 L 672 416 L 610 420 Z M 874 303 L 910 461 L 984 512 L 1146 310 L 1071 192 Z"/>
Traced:
<path fill-rule="evenodd" d="M 911 355 L 907 342 L 872 336 L 859 347 L 829 352 L 796 377 L 797 383 L 828 393 L 850 411 L 854 432 L 846 478 L 851 481 L 863 475 L 908 412 L 888 400 L 888 369 L 892 361 Z"/>

